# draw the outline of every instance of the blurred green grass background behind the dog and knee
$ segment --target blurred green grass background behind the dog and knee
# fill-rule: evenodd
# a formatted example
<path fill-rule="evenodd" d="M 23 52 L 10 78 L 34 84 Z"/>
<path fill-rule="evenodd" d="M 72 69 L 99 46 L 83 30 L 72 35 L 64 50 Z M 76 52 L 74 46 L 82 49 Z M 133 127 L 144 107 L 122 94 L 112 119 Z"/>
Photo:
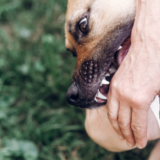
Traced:
<path fill-rule="evenodd" d="M 0 160 L 145 160 L 110 153 L 84 130 L 65 94 L 75 59 L 65 50 L 67 0 L 0 0 Z"/>

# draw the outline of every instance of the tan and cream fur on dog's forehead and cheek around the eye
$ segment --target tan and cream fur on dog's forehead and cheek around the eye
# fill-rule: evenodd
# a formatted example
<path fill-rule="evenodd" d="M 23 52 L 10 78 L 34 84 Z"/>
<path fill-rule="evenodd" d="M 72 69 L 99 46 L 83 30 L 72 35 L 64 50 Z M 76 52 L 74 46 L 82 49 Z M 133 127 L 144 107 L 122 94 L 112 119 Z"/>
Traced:
<path fill-rule="evenodd" d="M 77 25 L 82 15 L 90 9 L 89 28 L 87 38 L 77 44 L 69 33 L 68 23 Z M 104 35 L 110 34 L 114 28 L 135 16 L 135 0 L 69 0 L 66 15 L 65 33 L 66 48 L 77 52 L 77 65 L 84 58 L 90 58 L 96 44 Z"/>

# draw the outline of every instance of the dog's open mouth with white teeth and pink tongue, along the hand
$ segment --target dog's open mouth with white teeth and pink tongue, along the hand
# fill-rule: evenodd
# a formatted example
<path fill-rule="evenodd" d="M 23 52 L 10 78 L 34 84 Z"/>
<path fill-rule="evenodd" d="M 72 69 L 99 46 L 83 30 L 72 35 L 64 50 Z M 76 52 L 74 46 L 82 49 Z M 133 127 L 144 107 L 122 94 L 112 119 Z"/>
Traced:
<path fill-rule="evenodd" d="M 118 48 L 117 52 L 115 53 L 113 57 L 113 61 L 109 67 L 109 70 L 104 77 L 104 79 L 101 82 L 101 85 L 97 91 L 97 94 L 95 96 L 95 101 L 98 104 L 106 104 L 107 103 L 107 96 L 109 92 L 109 86 L 110 82 L 112 80 L 112 77 L 114 76 L 115 72 L 117 71 L 118 67 L 121 65 L 123 59 L 127 55 L 129 49 L 131 46 L 131 38 L 128 37 L 122 45 Z"/>

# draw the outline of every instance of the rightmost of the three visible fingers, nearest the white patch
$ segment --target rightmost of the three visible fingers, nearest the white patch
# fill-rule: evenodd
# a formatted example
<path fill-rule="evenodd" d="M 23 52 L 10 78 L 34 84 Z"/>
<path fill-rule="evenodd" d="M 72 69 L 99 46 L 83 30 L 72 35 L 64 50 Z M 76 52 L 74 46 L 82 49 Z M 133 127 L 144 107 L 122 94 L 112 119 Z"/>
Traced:
<path fill-rule="evenodd" d="M 148 111 L 144 108 L 132 110 L 131 128 L 139 149 L 144 148 L 147 144 L 147 118 Z"/>

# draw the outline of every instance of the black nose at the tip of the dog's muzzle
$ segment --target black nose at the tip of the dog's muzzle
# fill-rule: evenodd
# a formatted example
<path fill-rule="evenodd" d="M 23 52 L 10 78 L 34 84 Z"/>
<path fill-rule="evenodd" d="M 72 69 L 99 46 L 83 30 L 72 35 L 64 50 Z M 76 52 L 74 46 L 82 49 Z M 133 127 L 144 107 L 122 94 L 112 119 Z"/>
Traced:
<path fill-rule="evenodd" d="M 76 82 L 73 82 L 67 92 L 67 101 L 68 103 L 74 105 L 77 102 L 78 99 L 78 86 Z"/>

